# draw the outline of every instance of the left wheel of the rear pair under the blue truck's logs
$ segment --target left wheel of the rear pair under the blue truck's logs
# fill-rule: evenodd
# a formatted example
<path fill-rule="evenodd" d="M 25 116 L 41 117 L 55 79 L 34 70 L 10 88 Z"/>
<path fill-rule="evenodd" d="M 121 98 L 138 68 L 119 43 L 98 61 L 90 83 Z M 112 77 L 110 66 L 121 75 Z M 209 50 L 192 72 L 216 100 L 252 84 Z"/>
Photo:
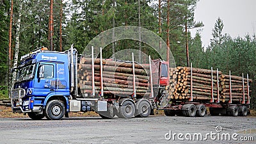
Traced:
<path fill-rule="evenodd" d="M 124 103 L 123 103 L 123 106 L 120 106 L 119 108 L 119 116 L 120 118 L 131 118 L 132 116 L 134 116 L 134 113 L 135 113 L 135 106 L 134 104 L 129 101 L 129 100 L 126 100 Z"/>

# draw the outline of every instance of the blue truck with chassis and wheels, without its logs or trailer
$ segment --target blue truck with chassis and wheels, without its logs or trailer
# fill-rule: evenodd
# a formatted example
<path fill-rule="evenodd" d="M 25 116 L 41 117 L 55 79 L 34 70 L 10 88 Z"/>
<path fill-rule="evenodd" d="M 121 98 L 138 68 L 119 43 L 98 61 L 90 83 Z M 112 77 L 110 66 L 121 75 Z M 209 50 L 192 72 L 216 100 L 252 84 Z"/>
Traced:
<path fill-rule="evenodd" d="M 113 118 L 115 115 L 131 118 L 147 117 L 157 108 L 156 97 L 152 97 L 154 93 L 148 98 L 136 99 L 131 95 L 105 99 L 94 93 L 90 95 L 93 97 L 83 97 L 79 92 L 78 65 L 79 56 L 73 46 L 65 52 L 47 51 L 45 47 L 40 47 L 22 56 L 19 67 L 13 70 L 17 72 L 10 93 L 13 113 L 28 114 L 33 120 L 44 117 L 61 120 L 63 116 L 68 117 L 69 112 L 93 110 L 102 118 Z M 164 72 L 168 73 L 167 67 Z M 168 81 L 168 77 L 162 79 Z M 164 90 L 163 81 L 162 85 L 161 90 Z M 159 89 L 161 86 L 156 87 Z M 152 85 L 150 88 L 153 88 Z"/>

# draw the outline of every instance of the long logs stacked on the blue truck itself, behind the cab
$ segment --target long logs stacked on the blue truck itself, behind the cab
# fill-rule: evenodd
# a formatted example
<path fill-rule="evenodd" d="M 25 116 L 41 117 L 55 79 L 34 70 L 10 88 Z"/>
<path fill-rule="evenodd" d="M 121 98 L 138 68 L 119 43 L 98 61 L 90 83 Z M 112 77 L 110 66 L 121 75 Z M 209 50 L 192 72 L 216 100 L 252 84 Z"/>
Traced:
<path fill-rule="evenodd" d="M 133 70 L 131 62 L 102 60 L 102 78 L 104 95 L 129 96 L 134 92 Z M 95 91 L 100 92 L 100 59 L 94 61 L 94 85 Z M 136 76 L 136 95 L 144 96 L 148 93 L 147 65 L 134 64 Z M 78 66 L 79 88 L 81 93 L 92 95 L 92 58 L 82 57 Z M 96 93 L 97 94 L 97 93 Z"/>

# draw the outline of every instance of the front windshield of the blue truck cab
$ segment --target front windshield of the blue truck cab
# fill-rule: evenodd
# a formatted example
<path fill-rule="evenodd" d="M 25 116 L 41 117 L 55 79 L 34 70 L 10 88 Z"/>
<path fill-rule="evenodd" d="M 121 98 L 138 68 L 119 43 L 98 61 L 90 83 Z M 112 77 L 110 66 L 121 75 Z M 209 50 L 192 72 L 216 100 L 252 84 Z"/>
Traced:
<path fill-rule="evenodd" d="M 34 68 L 35 64 L 20 67 L 19 72 L 17 73 L 17 81 L 26 81 L 31 79 L 34 76 Z"/>

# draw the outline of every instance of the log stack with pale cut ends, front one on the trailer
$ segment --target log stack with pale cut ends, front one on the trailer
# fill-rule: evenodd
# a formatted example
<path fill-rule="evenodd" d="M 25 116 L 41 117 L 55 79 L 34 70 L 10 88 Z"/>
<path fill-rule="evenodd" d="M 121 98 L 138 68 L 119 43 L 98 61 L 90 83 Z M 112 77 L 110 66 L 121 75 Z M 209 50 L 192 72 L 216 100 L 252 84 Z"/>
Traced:
<path fill-rule="evenodd" d="M 172 99 L 189 99 L 192 94 L 194 100 L 211 100 L 212 95 L 214 96 L 214 100 L 216 100 L 218 91 L 220 94 L 220 90 L 222 90 L 220 86 L 218 88 L 216 70 L 211 71 L 202 68 L 192 68 L 192 79 L 190 67 L 170 69 L 170 74 L 173 74 L 174 77 L 170 77 L 170 86 L 167 89 L 169 94 L 173 91 Z M 218 72 L 218 74 L 220 76 L 221 72 Z M 176 80 L 173 80 L 175 78 Z M 173 85 L 175 85 L 175 90 L 173 90 Z"/>

